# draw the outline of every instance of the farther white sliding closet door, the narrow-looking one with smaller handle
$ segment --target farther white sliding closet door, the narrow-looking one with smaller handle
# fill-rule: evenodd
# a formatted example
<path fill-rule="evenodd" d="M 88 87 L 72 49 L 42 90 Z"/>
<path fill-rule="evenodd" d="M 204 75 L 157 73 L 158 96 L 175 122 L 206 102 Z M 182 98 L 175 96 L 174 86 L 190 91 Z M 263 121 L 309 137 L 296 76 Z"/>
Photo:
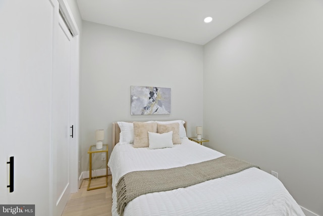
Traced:
<path fill-rule="evenodd" d="M 52 137 L 55 149 L 54 168 L 56 174 L 56 215 L 61 215 L 71 193 L 70 185 L 70 78 L 71 78 L 71 39 L 62 17 L 59 19 L 57 69 L 53 72 Z M 74 129 L 74 126 L 73 126 Z M 74 132 L 73 132 L 74 136 Z"/>

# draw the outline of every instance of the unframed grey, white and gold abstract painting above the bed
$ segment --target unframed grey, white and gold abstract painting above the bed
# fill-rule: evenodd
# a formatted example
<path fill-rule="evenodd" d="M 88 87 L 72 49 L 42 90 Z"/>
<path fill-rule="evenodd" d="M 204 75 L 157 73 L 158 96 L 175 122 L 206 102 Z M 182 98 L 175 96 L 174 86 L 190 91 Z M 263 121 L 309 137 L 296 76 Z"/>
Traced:
<path fill-rule="evenodd" d="M 171 114 L 171 88 L 131 86 L 131 115 Z"/>

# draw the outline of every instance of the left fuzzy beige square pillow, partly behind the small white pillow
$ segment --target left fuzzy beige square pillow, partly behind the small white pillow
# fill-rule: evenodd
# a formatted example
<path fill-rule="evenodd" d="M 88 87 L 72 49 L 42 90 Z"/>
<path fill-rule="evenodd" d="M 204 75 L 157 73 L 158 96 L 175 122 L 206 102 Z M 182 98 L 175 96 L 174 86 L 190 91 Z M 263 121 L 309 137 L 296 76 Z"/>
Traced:
<path fill-rule="evenodd" d="M 157 133 L 156 122 L 133 122 L 134 148 L 149 147 L 148 132 Z"/>

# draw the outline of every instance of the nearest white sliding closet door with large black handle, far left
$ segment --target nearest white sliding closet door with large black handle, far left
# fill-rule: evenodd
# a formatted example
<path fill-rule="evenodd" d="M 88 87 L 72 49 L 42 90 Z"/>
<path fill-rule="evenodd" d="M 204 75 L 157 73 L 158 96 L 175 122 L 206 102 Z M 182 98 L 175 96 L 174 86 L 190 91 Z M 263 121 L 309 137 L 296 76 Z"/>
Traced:
<path fill-rule="evenodd" d="M 52 215 L 51 76 L 55 0 L 0 1 L 0 204 Z M 67 133 L 67 132 L 66 132 Z M 14 157 L 14 191 L 7 161 Z"/>

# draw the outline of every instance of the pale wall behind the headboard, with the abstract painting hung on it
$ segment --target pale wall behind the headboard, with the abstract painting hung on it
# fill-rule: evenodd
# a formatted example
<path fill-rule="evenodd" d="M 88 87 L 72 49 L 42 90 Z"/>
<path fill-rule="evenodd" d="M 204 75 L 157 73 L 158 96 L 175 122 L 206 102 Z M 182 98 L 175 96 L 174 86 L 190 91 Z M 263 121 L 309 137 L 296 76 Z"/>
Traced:
<path fill-rule="evenodd" d="M 104 129 L 111 150 L 114 121 L 184 119 L 195 135 L 203 118 L 202 46 L 84 21 L 81 49 L 82 171 L 95 129 Z M 171 114 L 130 115 L 131 85 L 171 88 Z"/>

